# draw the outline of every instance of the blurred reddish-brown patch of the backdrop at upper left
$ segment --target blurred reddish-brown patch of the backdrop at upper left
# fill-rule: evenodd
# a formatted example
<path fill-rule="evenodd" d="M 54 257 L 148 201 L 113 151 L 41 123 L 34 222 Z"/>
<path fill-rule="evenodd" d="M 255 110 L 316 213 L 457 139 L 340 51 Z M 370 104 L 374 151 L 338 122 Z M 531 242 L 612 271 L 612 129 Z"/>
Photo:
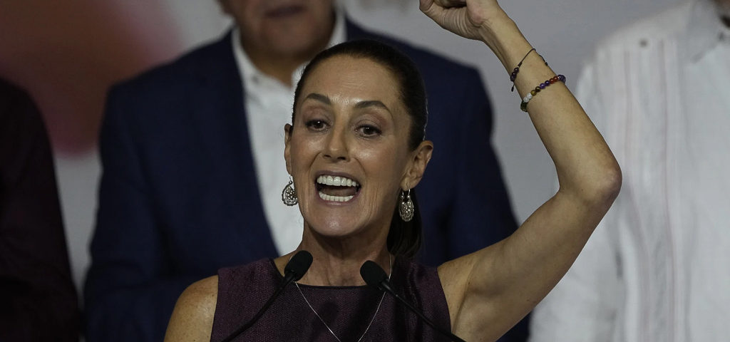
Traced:
<path fill-rule="evenodd" d="M 0 9 L 0 77 L 34 96 L 65 154 L 95 147 L 112 82 L 183 49 L 157 0 L 0 0 Z"/>

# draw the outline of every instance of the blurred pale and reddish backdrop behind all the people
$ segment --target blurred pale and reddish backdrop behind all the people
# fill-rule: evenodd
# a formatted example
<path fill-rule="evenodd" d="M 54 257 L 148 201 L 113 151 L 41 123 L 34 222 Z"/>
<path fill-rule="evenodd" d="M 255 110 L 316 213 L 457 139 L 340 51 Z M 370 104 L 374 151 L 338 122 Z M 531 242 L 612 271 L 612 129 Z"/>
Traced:
<path fill-rule="evenodd" d="M 501 2 L 573 87 L 599 39 L 679 1 Z M 443 31 L 418 11 L 416 0 L 340 3 L 365 27 L 477 66 L 493 101 L 493 144 L 520 222 L 553 194 L 550 158 L 520 112 L 520 99 L 510 93 L 509 75 L 483 44 Z M 230 25 L 215 0 L 0 0 L 0 77 L 30 91 L 45 115 L 78 289 L 89 261 L 101 171 L 96 137 L 108 87 L 217 38 Z M 453 118 L 458 120 L 458 113 Z M 445 152 L 436 147 L 435 153 Z"/>

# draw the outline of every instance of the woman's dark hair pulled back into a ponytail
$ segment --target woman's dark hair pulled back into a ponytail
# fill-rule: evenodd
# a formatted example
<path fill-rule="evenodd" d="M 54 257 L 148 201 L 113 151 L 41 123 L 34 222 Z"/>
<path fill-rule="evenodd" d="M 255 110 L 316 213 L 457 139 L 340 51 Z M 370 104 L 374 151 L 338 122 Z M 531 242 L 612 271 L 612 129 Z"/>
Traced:
<path fill-rule="evenodd" d="M 403 101 L 404 107 L 411 119 L 408 147 L 411 151 L 416 149 L 420 142 L 426 138 L 426 123 L 428 121 L 426 89 L 423 85 L 423 79 L 420 77 L 418 68 L 410 58 L 393 47 L 374 40 L 353 40 L 337 44 L 316 55 L 304 67 L 304 71 L 301 73 L 301 79 L 296 84 L 296 90 L 294 91 L 295 110 L 292 111 L 291 122 L 294 122 L 296 104 L 301 96 L 301 88 L 307 82 L 309 75 L 320 63 L 337 55 L 366 58 L 379 63 L 385 69 L 391 71 L 396 82 L 398 82 L 401 101 Z M 393 211 L 393 219 L 391 219 L 391 229 L 388 232 L 388 252 L 396 256 L 415 257 L 418 249 L 420 249 L 423 233 L 421 231 L 422 225 L 420 211 L 418 210 L 418 201 L 416 200 L 414 190 L 411 190 L 410 197 L 415 209 L 413 219 L 410 222 L 404 222 L 398 214 L 397 206 L 395 211 Z"/>

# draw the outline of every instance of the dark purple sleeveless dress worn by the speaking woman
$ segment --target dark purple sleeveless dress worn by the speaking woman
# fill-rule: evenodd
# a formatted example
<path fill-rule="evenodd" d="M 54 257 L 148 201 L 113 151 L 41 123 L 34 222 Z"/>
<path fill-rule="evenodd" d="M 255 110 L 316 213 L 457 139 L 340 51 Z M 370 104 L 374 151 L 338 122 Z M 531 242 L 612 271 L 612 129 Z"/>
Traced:
<path fill-rule="evenodd" d="M 218 301 L 212 342 L 219 342 L 248 322 L 283 281 L 274 260 L 258 260 L 218 271 Z M 444 291 L 436 268 L 396 258 L 391 273 L 393 289 L 420 308 L 438 327 L 450 331 Z M 383 292 L 372 287 L 320 287 L 299 285 L 304 297 L 342 342 L 360 341 L 450 341 L 418 316 Z M 289 284 L 263 316 L 234 341 L 337 342 L 312 312 L 295 284 Z M 377 314 L 376 314 L 377 311 Z M 374 320 L 373 320 L 373 315 Z"/>

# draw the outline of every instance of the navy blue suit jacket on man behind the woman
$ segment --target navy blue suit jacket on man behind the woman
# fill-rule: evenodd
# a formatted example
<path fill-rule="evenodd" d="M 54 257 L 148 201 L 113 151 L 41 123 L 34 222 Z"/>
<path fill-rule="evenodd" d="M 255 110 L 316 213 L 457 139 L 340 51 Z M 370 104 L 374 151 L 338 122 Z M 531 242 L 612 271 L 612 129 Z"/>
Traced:
<path fill-rule="evenodd" d="M 85 286 L 87 341 L 161 341 L 175 300 L 193 281 L 277 256 L 229 35 L 110 92 Z M 393 44 L 423 72 L 435 149 L 418 185 L 421 260 L 442 263 L 512 233 L 477 71 L 351 23 L 347 37 Z"/>

